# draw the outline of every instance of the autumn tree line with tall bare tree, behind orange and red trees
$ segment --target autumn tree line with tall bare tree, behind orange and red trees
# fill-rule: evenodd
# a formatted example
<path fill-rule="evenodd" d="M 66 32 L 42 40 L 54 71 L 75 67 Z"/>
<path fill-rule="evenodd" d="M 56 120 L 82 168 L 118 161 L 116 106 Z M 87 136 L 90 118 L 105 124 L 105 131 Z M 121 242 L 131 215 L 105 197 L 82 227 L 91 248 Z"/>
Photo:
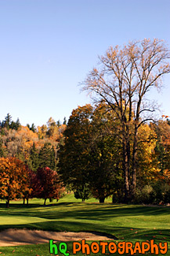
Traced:
<path fill-rule="evenodd" d="M 170 202 L 170 121 L 154 118 L 149 95 L 170 72 L 169 58 L 158 39 L 110 47 L 81 83 L 94 105 L 78 106 L 63 124 L 50 117 L 36 131 L 2 122 L 1 156 L 19 158 L 34 173 L 48 166 L 83 201 Z"/>

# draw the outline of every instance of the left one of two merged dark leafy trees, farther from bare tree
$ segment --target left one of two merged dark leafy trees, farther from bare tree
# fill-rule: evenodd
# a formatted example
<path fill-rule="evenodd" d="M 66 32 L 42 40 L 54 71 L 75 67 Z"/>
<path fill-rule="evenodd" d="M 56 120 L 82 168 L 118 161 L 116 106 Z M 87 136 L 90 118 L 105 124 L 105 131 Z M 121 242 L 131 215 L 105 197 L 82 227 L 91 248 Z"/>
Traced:
<path fill-rule="evenodd" d="M 71 185 L 74 191 L 79 187 L 84 191 L 89 184 L 88 134 L 92 115 L 92 106 L 78 107 L 72 111 L 67 128 L 65 141 L 58 151 L 59 173 L 65 185 Z M 83 199 L 83 198 L 82 198 Z"/>

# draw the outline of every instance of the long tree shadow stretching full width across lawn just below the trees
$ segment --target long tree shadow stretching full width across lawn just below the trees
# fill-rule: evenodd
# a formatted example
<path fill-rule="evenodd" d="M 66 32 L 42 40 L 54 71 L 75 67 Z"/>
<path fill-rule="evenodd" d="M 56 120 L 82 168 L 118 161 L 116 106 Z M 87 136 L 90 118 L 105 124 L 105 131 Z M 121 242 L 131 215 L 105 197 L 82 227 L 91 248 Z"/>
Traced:
<path fill-rule="evenodd" d="M 170 207 L 113 205 L 81 202 L 59 202 L 42 206 L 38 204 L 11 204 L 9 209 L 0 203 L 1 216 L 28 216 L 47 220 L 74 218 L 76 220 L 107 221 L 114 217 L 163 216 L 170 214 Z"/>

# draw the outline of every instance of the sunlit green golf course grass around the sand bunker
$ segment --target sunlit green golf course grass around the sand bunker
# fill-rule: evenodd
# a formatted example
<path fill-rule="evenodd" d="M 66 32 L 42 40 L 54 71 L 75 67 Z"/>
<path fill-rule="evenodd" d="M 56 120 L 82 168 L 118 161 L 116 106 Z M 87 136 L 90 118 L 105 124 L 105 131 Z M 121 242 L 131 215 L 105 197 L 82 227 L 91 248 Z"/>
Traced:
<path fill-rule="evenodd" d="M 110 201 L 109 198 L 106 203 L 99 204 L 96 199 L 91 198 L 87 202 L 81 202 L 70 194 L 47 206 L 43 206 L 43 200 L 32 199 L 28 206 L 23 206 L 22 202 L 17 201 L 11 202 L 10 208 L 6 209 L 5 203 L 0 202 L 0 229 L 93 231 L 116 236 L 118 241 L 136 243 L 154 239 L 154 243 L 170 244 L 170 207 L 113 205 Z M 71 252 L 72 245 L 67 244 Z M 170 255 L 170 247 L 168 249 L 166 255 Z M 51 255 L 48 243 L 0 247 L 0 252 L 2 255 Z"/>

